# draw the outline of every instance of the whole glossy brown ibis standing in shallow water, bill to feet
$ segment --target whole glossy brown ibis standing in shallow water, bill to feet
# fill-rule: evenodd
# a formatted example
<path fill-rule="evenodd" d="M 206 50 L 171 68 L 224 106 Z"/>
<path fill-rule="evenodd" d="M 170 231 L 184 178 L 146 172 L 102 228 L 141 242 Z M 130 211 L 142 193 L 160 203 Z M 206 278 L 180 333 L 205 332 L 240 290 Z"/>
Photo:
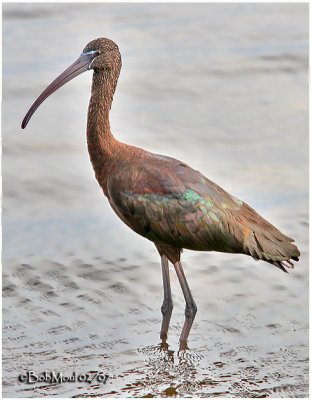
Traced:
<path fill-rule="evenodd" d="M 161 337 L 166 339 L 173 303 L 168 260 L 175 267 L 185 301 L 185 343 L 196 305 L 184 276 L 180 254 L 191 250 L 241 253 L 286 272 L 300 255 L 285 236 L 246 203 L 181 161 L 117 141 L 110 130 L 109 110 L 121 70 L 118 46 L 96 39 L 78 60 L 56 78 L 26 114 L 25 128 L 38 106 L 80 73 L 93 69 L 87 143 L 96 179 L 116 214 L 131 229 L 154 242 L 161 256 L 164 300 Z"/>

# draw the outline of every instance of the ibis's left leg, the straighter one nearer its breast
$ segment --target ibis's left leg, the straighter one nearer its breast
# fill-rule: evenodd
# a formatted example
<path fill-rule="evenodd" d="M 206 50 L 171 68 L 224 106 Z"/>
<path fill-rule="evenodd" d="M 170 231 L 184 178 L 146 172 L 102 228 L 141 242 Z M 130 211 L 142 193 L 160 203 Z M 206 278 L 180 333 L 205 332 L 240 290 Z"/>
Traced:
<path fill-rule="evenodd" d="M 170 319 L 173 310 L 173 300 L 171 293 L 168 259 L 165 257 L 164 254 L 161 256 L 161 266 L 162 266 L 162 276 L 163 276 L 164 299 L 161 307 L 161 312 L 163 314 L 163 317 L 162 317 L 160 338 L 163 341 L 165 341 L 167 339 L 168 327 L 170 324 Z"/>

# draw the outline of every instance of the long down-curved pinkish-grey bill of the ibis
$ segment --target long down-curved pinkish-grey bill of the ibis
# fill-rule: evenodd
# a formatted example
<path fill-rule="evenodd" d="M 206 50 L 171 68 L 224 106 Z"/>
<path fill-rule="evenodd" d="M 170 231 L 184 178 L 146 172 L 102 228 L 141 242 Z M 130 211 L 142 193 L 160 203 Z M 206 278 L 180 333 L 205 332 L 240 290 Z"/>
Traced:
<path fill-rule="evenodd" d="M 37 98 L 33 105 L 28 110 L 22 122 L 22 129 L 26 128 L 30 118 L 36 109 L 40 106 L 44 100 L 54 93 L 57 89 L 69 82 L 71 79 L 82 74 L 88 70 L 92 57 L 88 54 L 81 54 L 81 56 L 68 67 L 62 74 L 60 74 Z"/>

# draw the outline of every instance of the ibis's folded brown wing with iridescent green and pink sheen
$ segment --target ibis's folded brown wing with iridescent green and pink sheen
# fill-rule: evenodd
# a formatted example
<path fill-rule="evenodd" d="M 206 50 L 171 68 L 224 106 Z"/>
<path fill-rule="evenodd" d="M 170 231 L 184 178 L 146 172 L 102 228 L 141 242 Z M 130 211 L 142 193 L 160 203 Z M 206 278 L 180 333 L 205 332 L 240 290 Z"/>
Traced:
<path fill-rule="evenodd" d="M 121 219 L 155 243 L 266 261 L 288 258 L 281 243 L 294 246 L 246 203 L 169 157 L 125 166 L 108 180 L 108 190 Z"/>

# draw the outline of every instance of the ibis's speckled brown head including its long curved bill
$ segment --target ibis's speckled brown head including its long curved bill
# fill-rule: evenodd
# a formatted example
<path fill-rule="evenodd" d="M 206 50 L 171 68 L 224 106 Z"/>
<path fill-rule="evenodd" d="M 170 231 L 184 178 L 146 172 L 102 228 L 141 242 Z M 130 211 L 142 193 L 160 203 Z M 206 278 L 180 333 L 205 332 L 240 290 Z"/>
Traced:
<path fill-rule="evenodd" d="M 80 57 L 60 74 L 37 98 L 25 115 L 22 128 L 26 128 L 30 118 L 43 101 L 57 89 L 82 72 L 93 69 L 94 72 L 111 71 L 116 69 L 119 74 L 121 56 L 118 46 L 110 39 L 100 38 L 92 40 L 83 49 Z"/>

